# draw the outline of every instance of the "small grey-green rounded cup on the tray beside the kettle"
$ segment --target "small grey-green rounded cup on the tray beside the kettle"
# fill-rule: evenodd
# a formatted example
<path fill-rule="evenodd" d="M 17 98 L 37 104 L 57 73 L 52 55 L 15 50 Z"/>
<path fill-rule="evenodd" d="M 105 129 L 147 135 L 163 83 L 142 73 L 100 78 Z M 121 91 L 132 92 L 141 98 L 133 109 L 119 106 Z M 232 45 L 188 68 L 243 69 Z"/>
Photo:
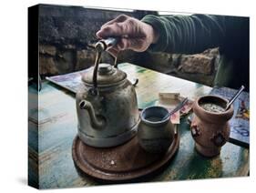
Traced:
<path fill-rule="evenodd" d="M 138 143 L 149 153 L 162 153 L 169 149 L 174 127 L 165 107 L 147 107 L 140 114 Z"/>

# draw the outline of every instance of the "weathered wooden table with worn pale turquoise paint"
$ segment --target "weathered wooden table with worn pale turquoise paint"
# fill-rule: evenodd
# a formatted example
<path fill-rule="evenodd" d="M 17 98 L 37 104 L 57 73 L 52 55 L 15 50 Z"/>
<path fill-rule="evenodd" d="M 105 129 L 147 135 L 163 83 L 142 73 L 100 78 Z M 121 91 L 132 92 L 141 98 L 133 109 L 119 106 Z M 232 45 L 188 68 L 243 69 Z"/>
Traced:
<path fill-rule="evenodd" d="M 179 92 L 181 96 L 194 99 L 208 94 L 211 90 L 209 86 L 128 63 L 119 65 L 119 68 L 126 71 L 129 78 L 138 77 L 136 91 L 139 107 L 154 105 L 159 92 Z M 29 86 L 29 103 L 29 184 L 39 184 L 37 188 L 70 188 L 100 184 L 93 178 L 79 175 L 71 156 L 72 142 L 77 135 L 75 95 L 46 81 L 42 85 L 39 99 L 36 89 Z M 178 129 L 180 144 L 177 155 L 169 162 L 167 168 L 147 180 L 248 176 L 249 149 L 227 143 L 222 147 L 220 156 L 201 157 L 194 148 L 186 118 L 181 120 Z"/>

